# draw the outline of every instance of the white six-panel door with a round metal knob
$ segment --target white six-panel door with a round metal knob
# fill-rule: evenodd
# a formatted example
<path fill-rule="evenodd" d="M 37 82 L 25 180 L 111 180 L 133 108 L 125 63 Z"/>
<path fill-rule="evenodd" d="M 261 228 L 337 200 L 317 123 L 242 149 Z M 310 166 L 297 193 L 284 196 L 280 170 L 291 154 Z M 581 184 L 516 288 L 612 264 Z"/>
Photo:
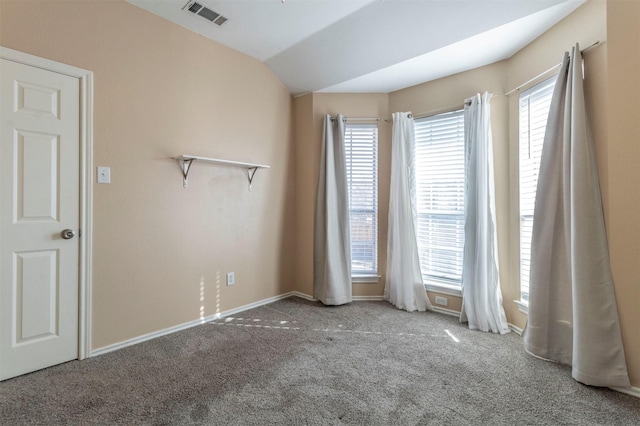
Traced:
<path fill-rule="evenodd" d="M 6 59 L 0 80 L 4 380 L 78 358 L 80 85 Z"/>

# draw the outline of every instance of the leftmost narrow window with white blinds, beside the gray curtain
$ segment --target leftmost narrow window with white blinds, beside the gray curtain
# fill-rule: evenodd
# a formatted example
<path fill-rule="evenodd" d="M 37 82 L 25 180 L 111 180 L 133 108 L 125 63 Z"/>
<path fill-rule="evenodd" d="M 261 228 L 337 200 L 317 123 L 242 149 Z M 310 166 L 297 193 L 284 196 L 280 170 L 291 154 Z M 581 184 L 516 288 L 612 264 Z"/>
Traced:
<path fill-rule="evenodd" d="M 378 274 L 378 126 L 349 124 L 345 132 L 351 273 Z"/>

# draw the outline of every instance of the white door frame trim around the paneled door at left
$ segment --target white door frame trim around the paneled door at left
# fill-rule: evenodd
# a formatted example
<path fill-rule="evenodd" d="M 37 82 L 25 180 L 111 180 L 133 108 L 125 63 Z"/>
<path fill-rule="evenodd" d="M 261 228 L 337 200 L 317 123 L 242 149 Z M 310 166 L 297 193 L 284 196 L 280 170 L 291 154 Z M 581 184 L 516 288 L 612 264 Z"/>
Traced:
<path fill-rule="evenodd" d="M 93 72 L 0 46 L 0 58 L 77 78 L 80 83 L 78 359 L 91 356 L 93 237 Z"/>

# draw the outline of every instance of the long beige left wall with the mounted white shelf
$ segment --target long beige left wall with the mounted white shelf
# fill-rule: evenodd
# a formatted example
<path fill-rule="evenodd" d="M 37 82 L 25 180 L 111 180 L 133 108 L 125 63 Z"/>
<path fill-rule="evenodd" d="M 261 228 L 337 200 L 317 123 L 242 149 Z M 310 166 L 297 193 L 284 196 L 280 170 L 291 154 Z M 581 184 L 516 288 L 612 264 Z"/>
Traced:
<path fill-rule="evenodd" d="M 292 290 L 292 101 L 264 64 L 124 1 L 0 8 L 3 46 L 94 72 L 93 348 Z M 271 169 L 183 189 L 183 153 Z"/>

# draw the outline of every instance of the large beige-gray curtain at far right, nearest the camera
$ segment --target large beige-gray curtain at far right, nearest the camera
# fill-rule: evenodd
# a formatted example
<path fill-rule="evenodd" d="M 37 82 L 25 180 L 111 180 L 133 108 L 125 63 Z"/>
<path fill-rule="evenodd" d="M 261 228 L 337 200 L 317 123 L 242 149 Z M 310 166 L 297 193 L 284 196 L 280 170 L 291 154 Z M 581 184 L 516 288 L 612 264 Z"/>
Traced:
<path fill-rule="evenodd" d="M 540 160 L 525 349 L 575 380 L 629 386 L 578 45 L 565 52 Z"/>

